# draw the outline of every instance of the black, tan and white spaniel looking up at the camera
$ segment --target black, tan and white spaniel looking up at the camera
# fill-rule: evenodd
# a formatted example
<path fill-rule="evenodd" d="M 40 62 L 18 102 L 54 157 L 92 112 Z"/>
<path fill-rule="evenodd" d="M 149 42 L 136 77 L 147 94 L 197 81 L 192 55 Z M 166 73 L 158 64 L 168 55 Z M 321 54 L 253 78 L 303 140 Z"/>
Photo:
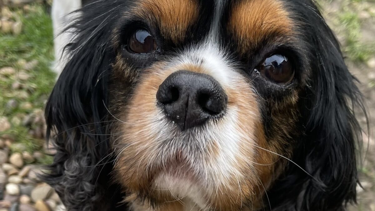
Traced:
<path fill-rule="evenodd" d="M 77 12 L 45 113 L 57 153 L 43 179 L 68 211 L 356 202 L 353 106 L 365 109 L 312 0 L 94 0 Z"/>

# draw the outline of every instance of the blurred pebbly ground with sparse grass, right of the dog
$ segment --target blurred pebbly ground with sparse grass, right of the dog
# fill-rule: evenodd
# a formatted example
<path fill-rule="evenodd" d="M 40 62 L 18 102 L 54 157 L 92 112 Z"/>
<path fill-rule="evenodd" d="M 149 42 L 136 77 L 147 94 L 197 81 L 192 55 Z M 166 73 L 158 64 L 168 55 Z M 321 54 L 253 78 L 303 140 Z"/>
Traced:
<path fill-rule="evenodd" d="M 358 205 L 350 211 L 375 211 L 375 1 L 331 0 L 320 1 L 329 26 L 342 44 L 350 71 L 360 80 L 368 108 L 370 130 L 362 113 L 358 119 L 364 137 L 360 168 L 362 187 L 357 187 Z"/>

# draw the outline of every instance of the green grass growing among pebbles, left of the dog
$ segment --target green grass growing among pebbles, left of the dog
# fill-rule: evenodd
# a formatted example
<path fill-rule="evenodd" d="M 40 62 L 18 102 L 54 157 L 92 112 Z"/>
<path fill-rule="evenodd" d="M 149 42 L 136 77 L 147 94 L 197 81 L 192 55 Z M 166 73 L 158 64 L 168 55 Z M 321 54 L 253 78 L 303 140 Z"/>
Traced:
<path fill-rule="evenodd" d="M 10 66 L 17 72 L 24 71 L 21 69 L 21 63 L 37 61 L 33 69 L 24 71 L 30 78 L 20 81 L 24 86 L 20 90 L 12 88 L 12 84 L 18 80 L 17 73 L 10 77 L 0 77 L 0 116 L 6 116 L 12 124 L 11 129 L 3 134 L 12 136 L 16 143 L 22 143 L 29 152 L 40 149 L 43 140 L 33 139 L 28 134 L 28 128 L 20 124 L 19 120 L 22 121 L 22 118 L 34 109 L 43 108 L 55 81 L 55 74 L 50 70 L 54 59 L 51 18 L 43 6 L 32 5 L 31 8 L 27 13 L 20 9 L 13 11 L 16 14 L 15 19 L 19 18 L 23 23 L 20 35 L 0 32 L 0 68 Z M 23 96 L 26 93 L 27 96 Z M 18 106 L 13 109 L 6 107 L 11 99 L 18 102 Z M 23 108 L 21 105 L 26 102 L 32 107 Z M 12 148 L 12 151 L 21 150 L 23 149 Z"/>

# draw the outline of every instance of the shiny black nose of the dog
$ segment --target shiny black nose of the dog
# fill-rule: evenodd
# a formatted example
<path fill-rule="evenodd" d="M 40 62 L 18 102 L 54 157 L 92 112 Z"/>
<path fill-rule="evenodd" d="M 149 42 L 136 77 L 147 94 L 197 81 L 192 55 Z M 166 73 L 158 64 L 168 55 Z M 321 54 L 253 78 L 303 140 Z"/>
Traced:
<path fill-rule="evenodd" d="M 181 130 L 204 124 L 225 112 L 228 97 L 213 77 L 180 70 L 159 86 L 156 99 Z"/>

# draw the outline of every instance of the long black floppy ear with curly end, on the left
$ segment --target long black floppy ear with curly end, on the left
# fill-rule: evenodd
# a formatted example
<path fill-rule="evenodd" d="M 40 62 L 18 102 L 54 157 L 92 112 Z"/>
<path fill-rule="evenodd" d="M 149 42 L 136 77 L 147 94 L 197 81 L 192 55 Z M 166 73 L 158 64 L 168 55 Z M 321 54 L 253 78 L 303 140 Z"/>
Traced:
<path fill-rule="evenodd" d="M 115 3 L 98 1 L 78 11 L 81 16 L 66 29 L 77 34 L 66 47 L 71 57 L 46 105 L 48 138 L 54 130 L 57 154 L 43 179 L 69 211 L 116 210 L 111 205 L 120 201 L 109 184 L 112 164 L 105 135 L 116 8 Z"/>

